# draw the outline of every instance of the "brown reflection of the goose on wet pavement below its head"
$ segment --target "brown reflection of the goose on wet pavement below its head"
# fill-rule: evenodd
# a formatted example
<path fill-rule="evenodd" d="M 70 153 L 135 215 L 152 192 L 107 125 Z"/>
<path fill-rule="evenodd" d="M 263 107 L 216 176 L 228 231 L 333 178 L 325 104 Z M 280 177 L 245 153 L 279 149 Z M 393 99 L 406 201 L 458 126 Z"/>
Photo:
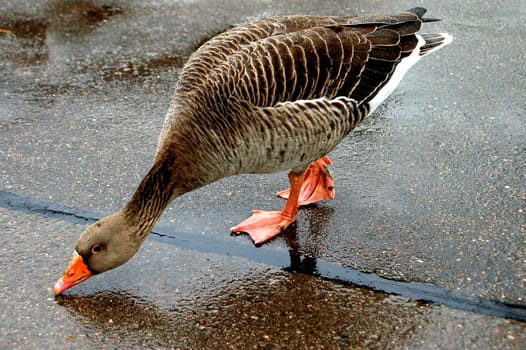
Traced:
<path fill-rule="evenodd" d="M 302 260 L 303 267 L 312 261 Z M 302 273 L 248 276 L 242 287 L 223 287 L 186 305 L 173 295 L 146 301 L 126 291 L 67 295 L 59 304 L 90 338 L 183 348 L 384 347 L 411 339 L 428 310 Z"/>

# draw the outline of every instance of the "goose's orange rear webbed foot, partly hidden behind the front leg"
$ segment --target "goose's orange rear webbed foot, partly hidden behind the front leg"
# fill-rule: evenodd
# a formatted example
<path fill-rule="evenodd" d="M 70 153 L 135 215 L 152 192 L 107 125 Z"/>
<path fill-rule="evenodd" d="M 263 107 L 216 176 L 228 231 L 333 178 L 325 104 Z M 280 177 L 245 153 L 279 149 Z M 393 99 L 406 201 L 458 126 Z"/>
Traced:
<path fill-rule="evenodd" d="M 329 174 L 328 165 L 332 162 L 322 157 L 309 164 L 301 186 L 298 206 L 316 203 L 325 199 L 334 199 L 334 181 Z M 289 198 L 290 189 L 277 193 L 278 197 Z"/>

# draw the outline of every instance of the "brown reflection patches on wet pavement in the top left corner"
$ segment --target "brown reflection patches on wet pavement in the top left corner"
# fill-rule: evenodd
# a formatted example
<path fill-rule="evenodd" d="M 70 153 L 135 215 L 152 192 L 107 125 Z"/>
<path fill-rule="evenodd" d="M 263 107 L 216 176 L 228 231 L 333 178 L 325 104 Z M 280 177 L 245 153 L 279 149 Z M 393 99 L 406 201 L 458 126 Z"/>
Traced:
<path fill-rule="evenodd" d="M 74 72 L 75 76 L 92 75 L 105 81 L 130 80 L 150 76 L 170 67 L 181 67 L 189 53 L 163 52 L 140 57 L 119 57 L 103 53 L 103 62 L 98 54 L 90 51 L 93 40 L 89 37 L 95 29 L 106 24 L 112 17 L 125 14 L 126 9 L 115 5 L 98 5 L 87 0 L 57 0 L 51 2 L 41 19 L 25 18 L 13 14 L 0 14 L 0 43 L 5 45 L 0 59 L 14 65 L 38 66 L 47 63 L 39 75 L 53 71 L 53 76 Z M 10 35 L 7 35 L 9 33 Z M 89 37 L 89 39 L 88 39 Z M 102 42 L 114 40 L 102 38 Z M 118 46 L 119 43 L 115 43 Z M 192 48 L 193 51 L 193 48 Z M 63 77 L 71 79 L 71 77 Z"/>

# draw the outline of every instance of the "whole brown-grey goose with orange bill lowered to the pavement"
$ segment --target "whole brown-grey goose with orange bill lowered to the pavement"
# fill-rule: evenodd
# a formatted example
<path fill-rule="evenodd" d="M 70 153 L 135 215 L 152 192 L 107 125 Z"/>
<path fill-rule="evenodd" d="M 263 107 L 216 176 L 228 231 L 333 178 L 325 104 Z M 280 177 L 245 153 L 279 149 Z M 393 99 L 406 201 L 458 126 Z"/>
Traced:
<path fill-rule="evenodd" d="M 275 16 L 204 43 L 180 74 L 151 169 L 121 210 L 82 233 L 55 295 L 131 259 L 171 201 L 225 177 L 290 171 L 283 209 L 255 210 L 231 229 L 255 245 L 298 207 L 333 199 L 326 155 L 413 64 L 452 41 L 419 33 L 438 21 L 425 12 Z"/>

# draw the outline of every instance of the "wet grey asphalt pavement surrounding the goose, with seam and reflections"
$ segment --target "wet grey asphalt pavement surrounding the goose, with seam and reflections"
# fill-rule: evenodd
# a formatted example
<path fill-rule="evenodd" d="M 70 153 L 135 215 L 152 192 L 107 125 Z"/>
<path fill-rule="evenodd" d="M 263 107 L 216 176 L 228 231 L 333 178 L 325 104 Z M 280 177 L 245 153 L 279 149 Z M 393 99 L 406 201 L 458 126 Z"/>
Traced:
<path fill-rule="evenodd" d="M 128 264 L 54 298 L 83 227 L 147 171 L 206 38 L 274 14 L 425 6 L 453 44 L 330 156 L 334 201 L 255 248 L 285 174 L 176 200 Z M 521 1 L 0 2 L 1 348 L 471 348 L 526 344 Z"/>

